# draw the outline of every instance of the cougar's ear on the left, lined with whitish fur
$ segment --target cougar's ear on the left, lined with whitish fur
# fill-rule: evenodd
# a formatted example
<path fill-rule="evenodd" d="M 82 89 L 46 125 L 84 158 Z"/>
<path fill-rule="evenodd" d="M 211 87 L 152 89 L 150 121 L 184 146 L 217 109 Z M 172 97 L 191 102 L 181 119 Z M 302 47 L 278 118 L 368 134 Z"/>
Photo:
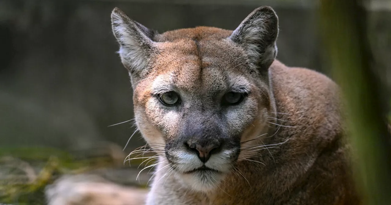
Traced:
<path fill-rule="evenodd" d="M 156 42 L 152 40 L 156 32 L 130 19 L 123 11 L 115 7 L 111 12 L 113 34 L 120 44 L 122 64 L 131 77 L 142 77 L 154 52 Z M 136 76 L 135 76 L 136 75 Z"/>

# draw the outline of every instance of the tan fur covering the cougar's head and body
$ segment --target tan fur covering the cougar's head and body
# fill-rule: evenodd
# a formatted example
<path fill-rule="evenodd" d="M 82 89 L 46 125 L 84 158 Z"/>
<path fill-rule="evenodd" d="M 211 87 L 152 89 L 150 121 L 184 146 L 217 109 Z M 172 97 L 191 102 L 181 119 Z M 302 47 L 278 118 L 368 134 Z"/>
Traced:
<path fill-rule="evenodd" d="M 138 63 L 142 67 L 129 66 L 131 62 L 123 57 L 126 53 L 121 53 L 122 62 L 131 73 L 136 123 L 147 143 L 160 154 L 161 164 L 147 196 L 148 205 L 359 204 L 351 180 L 348 146 L 343 140 L 338 87 L 312 70 L 289 68 L 277 60 L 270 65 L 270 58 L 276 55 L 274 41 L 278 32 L 272 11 L 269 7 L 258 8 L 234 32 L 212 27 L 163 34 L 148 31 L 135 33 L 136 37 L 142 36 L 140 42 L 146 43 L 131 45 L 121 44 L 121 33 L 115 32 L 122 52 L 133 49 L 132 46 L 133 50 L 144 49 L 137 57 L 147 62 Z M 124 20 L 130 22 L 129 27 L 142 28 L 119 9 L 113 14 L 113 22 Z M 247 24 L 259 27 L 243 27 Z M 120 26 L 113 24 L 113 30 Z M 246 36 L 240 36 L 241 30 L 247 37 L 253 36 L 246 40 Z M 148 35 L 151 41 L 145 40 Z M 256 39 L 257 35 L 263 39 Z M 260 43 L 252 45 L 257 40 Z M 258 50 L 256 46 L 264 47 Z M 153 97 L 156 90 L 170 86 L 183 96 L 183 105 L 178 105 L 178 109 L 162 107 Z M 235 105 L 242 107 L 221 110 L 215 99 L 221 99 L 230 86 L 249 86 L 251 92 L 243 105 Z M 217 126 L 217 121 L 222 120 L 220 115 L 229 119 Z M 241 149 L 275 145 L 263 150 L 242 150 L 227 165 L 229 168 L 221 169 L 221 176 L 216 175 L 216 183 L 194 185 L 191 183 L 196 183 L 195 176 L 169 165 L 167 154 L 190 153 L 184 151 L 179 136 L 188 136 L 183 133 L 193 127 L 214 133 L 211 126 L 226 128 L 221 131 L 230 137 L 226 140 L 240 142 Z M 240 141 L 235 141 L 239 131 Z M 204 135 L 212 143 L 213 136 L 223 134 L 217 129 L 213 136 Z M 204 191 L 198 188 L 203 186 Z"/>

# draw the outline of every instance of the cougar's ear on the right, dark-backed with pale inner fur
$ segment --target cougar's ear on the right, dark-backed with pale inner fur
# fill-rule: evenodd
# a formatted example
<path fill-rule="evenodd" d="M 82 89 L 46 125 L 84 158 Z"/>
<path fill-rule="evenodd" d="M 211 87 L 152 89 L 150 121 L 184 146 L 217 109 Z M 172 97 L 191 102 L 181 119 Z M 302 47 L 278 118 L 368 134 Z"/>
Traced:
<path fill-rule="evenodd" d="M 277 55 L 278 17 L 271 7 L 255 9 L 240 23 L 229 39 L 244 48 L 260 73 L 267 72 Z"/>

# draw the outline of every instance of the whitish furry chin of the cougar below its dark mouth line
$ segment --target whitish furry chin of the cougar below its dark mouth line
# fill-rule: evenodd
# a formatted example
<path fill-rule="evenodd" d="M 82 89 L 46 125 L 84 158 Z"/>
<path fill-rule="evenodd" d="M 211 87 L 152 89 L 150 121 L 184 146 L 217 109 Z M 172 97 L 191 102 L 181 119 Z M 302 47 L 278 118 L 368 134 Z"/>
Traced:
<path fill-rule="evenodd" d="M 177 175 L 184 185 L 198 192 L 210 192 L 217 189 L 225 174 L 213 170 L 192 171 Z"/>

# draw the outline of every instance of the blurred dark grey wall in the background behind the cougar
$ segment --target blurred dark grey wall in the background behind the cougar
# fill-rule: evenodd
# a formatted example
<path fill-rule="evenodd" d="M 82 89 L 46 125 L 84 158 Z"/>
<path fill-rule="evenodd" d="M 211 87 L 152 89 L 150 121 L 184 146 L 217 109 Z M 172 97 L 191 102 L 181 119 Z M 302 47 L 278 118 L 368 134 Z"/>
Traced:
<path fill-rule="evenodd" d="M 131 123 L 108 127 L 133 118 L 131 85 L 115 53 L 111 10 L 117 6 L 164 32 L 199 25 L 235 29 L 263 5 L 209 2 L 2 0 L 0 147 L 88 148 L 99 141 L 124 146 L 134 131 Z M 273 3 L 280 19 L 278 59 L 328 74 L 321 66 L 317 11 L 278 2 Z M 389 11 L 372 12 L 369 31 L 384 84 L 391 75 L 390 16 Z M 143 144 L 137 134 L 129 150 Z"/>

